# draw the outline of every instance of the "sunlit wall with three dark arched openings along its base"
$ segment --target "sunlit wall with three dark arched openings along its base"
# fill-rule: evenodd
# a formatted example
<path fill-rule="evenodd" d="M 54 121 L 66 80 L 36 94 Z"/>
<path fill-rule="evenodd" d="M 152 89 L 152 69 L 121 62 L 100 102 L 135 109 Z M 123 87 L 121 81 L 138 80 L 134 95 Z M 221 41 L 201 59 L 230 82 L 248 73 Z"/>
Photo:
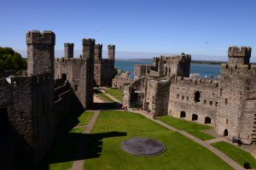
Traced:
<path fill-rule="evenodd" d="M 217 120 L 219 81 L 214 79 L 195 79 L 177 77 L 170 87 L 169 115 L 191 121 L 193 114 L 197 115 L 196 122 L 205 123 L 206 117 L 211 118 L 214 127 Z M 198 101 L 195 95 L 198 96 Z M 197 100 L 197 101 L 195 101 Z"/>

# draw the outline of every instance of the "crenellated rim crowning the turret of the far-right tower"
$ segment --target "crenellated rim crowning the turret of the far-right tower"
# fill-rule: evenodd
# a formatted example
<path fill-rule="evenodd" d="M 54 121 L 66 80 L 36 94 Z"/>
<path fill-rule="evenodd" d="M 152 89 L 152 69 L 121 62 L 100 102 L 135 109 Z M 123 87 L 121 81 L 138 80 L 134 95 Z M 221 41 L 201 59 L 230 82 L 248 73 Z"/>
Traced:
<path fill-rule="evenodd" d="M 251 56 L 252 48 L 241 46 L 241 48 L 237 46 L 232 46 L 229 48 L 228 54 L 229 57 L 246 57 Z"/>

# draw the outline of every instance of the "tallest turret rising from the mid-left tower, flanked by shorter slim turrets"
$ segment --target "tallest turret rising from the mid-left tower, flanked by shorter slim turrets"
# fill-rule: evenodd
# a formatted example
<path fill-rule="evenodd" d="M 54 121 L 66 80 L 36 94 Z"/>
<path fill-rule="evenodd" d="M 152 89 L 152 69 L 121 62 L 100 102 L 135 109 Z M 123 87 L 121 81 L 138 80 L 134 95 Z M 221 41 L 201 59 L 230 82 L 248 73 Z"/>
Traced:
<path fill-rule="evenodd" d="M 84 38 L 83 43 L 83 58 L 93 59 L 94 58 L 94 48 L 95 48 L 95 39 Z"/>

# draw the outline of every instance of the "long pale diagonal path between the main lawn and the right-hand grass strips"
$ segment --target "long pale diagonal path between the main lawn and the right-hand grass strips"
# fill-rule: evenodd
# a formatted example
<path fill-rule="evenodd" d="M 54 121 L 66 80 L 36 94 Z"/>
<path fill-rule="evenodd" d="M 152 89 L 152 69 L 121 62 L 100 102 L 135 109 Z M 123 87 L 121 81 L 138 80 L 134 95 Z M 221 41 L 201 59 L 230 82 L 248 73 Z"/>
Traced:
<path fill-rule="evenodd" d="M 172 127 L 168 124 L 166 124 L 165 122 L 160 122 L 159 120 L 157 119 L 153 119 L 153 116 L 152 115 L 148 115 L 146 114 L 144 111 L 131 111 L 131 112 L 135 112 L 135 113 L 139 113 L 145 117 L 147 117 L 148 119 L 154 121 L 154 122 L 157 122 L 158 124 L 160 124 L 161 126 L 163 127 L 166 127 L 174 132 L 177 132 L 177 133 L 181 133 L 183 134 L 184 136 L 186 136 L 187 138 L 193 140 L 194 142 L 196 142 L 197 144 L 201 144 L 202 146 L 204 146 L 205 148 L 207 148 L 208 150 L 211 150 L 215 155 L 217 155 L 219 158 L 221 158 L 223 161 L 225 161 L 227 164 L 230 165 L 230 167 L 233 167 L 234 169 L 236 170 L 241 170 L 241 169 L 244 169 L 243 167 L 241 167 L 238 163 L 236 163 L 236 161 L 233 161 L 229 156 L 226 156 L 223 152 L 221 152 L 220 150 L 214 148 L 211 144 L 214 142 L 213 139 L 211 140 L 208 140 L 208 141 L 203 141 L 201 139 L 197 139 L 195 138 L 195 136 L 192 136 L 191 134 L 189 133 L 186 133 L 185 131 L 183 130 L 178 130 L 177 128 L 175 127 Z M 221 139 L 216 139 L 216 141 L 218 140 L 221 140 Z"/>

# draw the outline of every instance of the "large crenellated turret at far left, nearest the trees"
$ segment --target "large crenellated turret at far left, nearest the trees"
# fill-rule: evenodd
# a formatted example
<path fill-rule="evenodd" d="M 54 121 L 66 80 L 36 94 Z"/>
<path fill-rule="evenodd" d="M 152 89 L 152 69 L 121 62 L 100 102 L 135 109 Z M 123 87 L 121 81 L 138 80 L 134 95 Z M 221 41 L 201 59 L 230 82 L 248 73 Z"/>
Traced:
<path fill-rule="evenodd" d="M 27 74 L 29 76 L 49 72 L 54 78 L 55 33 L 52 31 L 28 31 Z"/>

